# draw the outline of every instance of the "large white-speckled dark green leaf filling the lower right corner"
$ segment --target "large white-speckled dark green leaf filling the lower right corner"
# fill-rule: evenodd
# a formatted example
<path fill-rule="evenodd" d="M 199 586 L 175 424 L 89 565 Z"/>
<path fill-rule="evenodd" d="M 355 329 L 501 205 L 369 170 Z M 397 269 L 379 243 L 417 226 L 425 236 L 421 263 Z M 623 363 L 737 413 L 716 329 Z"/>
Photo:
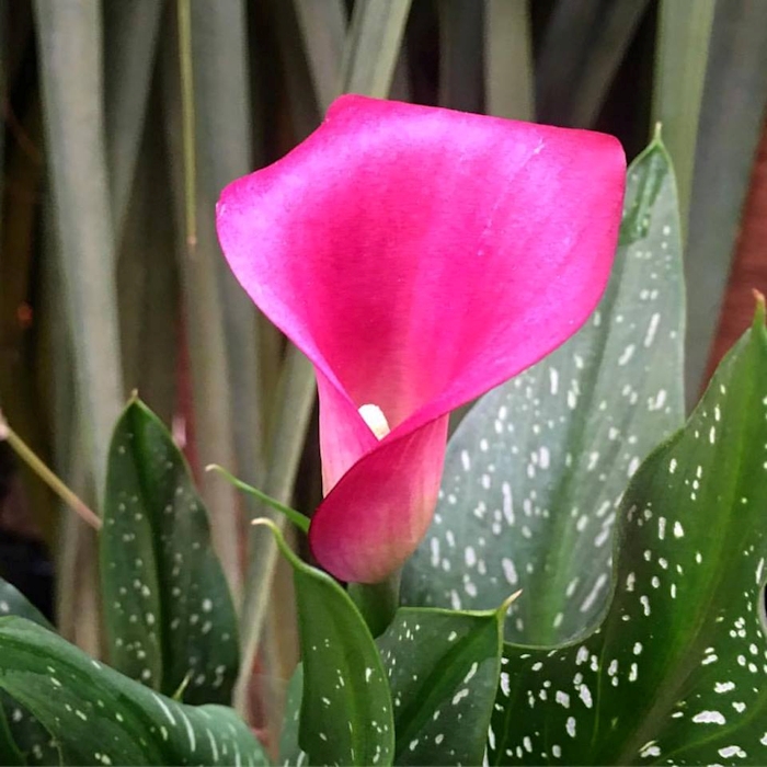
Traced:
<path fill-rule="evenodd" d="M 599 629 L 506 649 L 491 764 L 767 762 L 764 319 L 632 480 Z"/>

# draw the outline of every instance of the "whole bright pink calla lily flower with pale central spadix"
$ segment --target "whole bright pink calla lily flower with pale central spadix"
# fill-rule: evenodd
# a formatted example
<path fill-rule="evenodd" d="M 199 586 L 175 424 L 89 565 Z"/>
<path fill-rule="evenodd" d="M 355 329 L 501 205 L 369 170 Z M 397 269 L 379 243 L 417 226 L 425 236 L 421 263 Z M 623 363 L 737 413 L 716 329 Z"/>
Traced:
<path fill-rule="evenodd" d="M 450 411 L 586 320 L 625 178 L 609 136 L 350 95 L 224 191 L 234 275 L 317 373 L 309 540 L 333 575 L 375 583 L 404 563 L 434 513 Z"/>

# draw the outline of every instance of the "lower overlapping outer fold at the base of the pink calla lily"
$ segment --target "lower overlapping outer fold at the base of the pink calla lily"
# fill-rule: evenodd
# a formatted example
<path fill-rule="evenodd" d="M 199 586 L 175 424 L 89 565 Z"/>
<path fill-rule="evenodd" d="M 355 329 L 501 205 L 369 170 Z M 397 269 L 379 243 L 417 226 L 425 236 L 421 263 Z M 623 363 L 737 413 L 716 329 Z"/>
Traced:
<path fill-rule="evenodd" d="M 360 458 L 314 512 L 311 550 L 342 581 L 377 583 L 404 564 L 428 529 L 448 416 Z"/>

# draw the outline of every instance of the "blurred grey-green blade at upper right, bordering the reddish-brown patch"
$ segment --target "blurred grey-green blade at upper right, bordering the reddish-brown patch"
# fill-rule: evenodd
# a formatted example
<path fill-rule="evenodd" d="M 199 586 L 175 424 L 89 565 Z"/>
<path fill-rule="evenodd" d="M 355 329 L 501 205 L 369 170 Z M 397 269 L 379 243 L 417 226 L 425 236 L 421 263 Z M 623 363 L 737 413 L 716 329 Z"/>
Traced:
<path fill-rule="evenodd" d="M 695 296 L 685 353 L 690 409 L 705 382 L 766 106 L 767 3 L 718 2 L 700 106 L 685 262 L 687 291 Z"/>

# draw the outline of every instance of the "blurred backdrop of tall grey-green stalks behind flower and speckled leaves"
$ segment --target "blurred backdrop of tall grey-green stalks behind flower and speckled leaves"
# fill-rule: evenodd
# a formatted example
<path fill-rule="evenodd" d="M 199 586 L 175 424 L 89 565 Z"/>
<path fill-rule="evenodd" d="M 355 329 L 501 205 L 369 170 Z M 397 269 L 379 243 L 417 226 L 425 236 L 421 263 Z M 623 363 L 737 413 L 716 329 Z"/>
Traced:
<path fill-rule="evenodd" d="M 597 128 L 629 159 L 662 122 L 691 399 L 767 290 L 763 0 L 0 0 L 0 407 L 94 508 L 129 392 L 172 425 L 240 606 L 237 705 L 272 731 L 290 579 L 247 524 L 264 510 L 204 467 L 310 511 L 314 385 L 228 273 L 214 209 L 343 91 Z M 0 576 L 98 655 L 92 530 L 2 443 L 0 491 Z"/>

